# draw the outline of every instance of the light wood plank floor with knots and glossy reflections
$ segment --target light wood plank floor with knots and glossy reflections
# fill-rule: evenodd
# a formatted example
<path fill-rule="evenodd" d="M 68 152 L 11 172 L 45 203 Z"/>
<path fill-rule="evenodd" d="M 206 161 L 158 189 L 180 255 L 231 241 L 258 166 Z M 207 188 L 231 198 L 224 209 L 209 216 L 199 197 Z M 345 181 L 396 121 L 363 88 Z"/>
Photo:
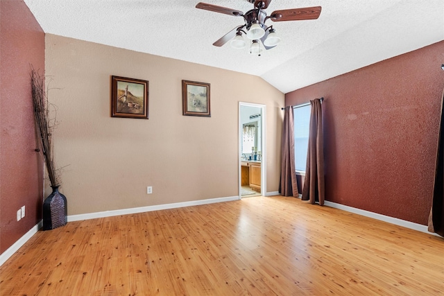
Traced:
<path fill-rule="evenodd" d="M 1 295 L 443 295 L 444 239 L 256 197 L 71 222 L 0 273 Z"/>

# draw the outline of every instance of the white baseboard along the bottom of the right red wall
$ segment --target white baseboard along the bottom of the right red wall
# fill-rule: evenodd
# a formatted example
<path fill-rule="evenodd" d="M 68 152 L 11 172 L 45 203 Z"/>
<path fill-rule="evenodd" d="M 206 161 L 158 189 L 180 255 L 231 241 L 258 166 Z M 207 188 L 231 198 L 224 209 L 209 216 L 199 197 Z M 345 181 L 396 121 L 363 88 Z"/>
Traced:
<path fill-rule="evenodd" d="M 433 235 L 438 236 L 438 234 L 435 234 L 433 232 L 429 232 L 427 230 L 427 226 L 421 225 L 421 224 L 418 224 L 418 223 L 413 223 L 413 222 L 410 222 L 410 221 L 407 221 L 407 220 L 402 220 L 402 219 L 398 219 L 398 218 L 393 218 L 391 216 L 385 216 L 385 215 L 382 215 L 382 214 L 373 213 L 373 211 L 366 211 L 364 209 L 357 209 L 357 208 L 354 208 L 354 207 L 348 207 L 348 206 L 345 206 L 343 204 L 337 204 L 336 202 L 329 202 L 327 200 L 325 200 L 324 204 L 327 207 L 333 207 L 335 209 L 341 209 L 343 211 L 349 211 L 350 213 L 353 213 L 353 214 L 358 214 L 358 215 L 361 215 L 361 216 L 366 216 L 366 217 L 369 217 L 369 218 L 373 218 L 373 219 L 376 219 L 376 220 L 381 220 L 381 221 L 384 221 L 384 222 L 387 222 L 387 223 L 391 223 L 391 224 L 394 224 L 394 225 L 398 225 L 398 226 L 406 227 L 406 228 L 409 228 L 409 229 L 417 230 L 418 232 L 425 232 L 426 234 L 433 234 Z"/>

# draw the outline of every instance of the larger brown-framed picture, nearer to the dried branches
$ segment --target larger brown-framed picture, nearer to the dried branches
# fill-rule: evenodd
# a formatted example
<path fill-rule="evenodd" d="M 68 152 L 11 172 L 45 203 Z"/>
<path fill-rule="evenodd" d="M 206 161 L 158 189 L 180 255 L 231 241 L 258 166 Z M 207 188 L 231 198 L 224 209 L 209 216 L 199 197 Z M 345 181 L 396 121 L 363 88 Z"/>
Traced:
<path fill-rule="evenodd" d="M 149 81 L 111 76 L 111 117 L 148 119 Z"/>

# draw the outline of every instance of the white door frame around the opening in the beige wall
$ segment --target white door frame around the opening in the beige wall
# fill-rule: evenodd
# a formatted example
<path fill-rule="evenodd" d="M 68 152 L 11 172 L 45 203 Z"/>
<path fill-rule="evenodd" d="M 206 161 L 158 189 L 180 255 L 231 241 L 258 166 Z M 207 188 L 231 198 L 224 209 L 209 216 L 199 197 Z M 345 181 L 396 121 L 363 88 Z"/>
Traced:
<path fill-rule="evenodd" d="M 241 156 L 242 156 L 242 122 L 241 122 L 241 107 L 247 106 L 247 107 L 258 107 L 261 109 L 261 195 L 265 196 L 266 194 L 266 105 L 263 104 L 256 104 L 256 103 L 247 103 L 247 102 L 240 102 L 239 101 L 239 123 L 238 123 L 238 134 L 239 134 L 239 145 L 238 145 L 238 153 L 237 157 L 239 159 L 238 162 L 238 170 L 239 170 L 239 200 L 242 198 L 241 195 Z"/>

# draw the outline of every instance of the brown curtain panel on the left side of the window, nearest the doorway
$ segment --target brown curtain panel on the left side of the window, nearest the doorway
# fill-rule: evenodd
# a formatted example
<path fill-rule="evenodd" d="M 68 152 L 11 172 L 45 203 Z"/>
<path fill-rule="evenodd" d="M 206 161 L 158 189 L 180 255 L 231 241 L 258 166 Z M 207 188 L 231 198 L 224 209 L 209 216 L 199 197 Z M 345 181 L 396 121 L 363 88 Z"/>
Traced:
<path fill-rule="evenodd" d="M 298 183 L 294 162 L 294 117 L 293 107 L 285 107 L 284 126 L 282 127 L 282 153 L 279 192 L 282 196 L 297 197 Z"/>

